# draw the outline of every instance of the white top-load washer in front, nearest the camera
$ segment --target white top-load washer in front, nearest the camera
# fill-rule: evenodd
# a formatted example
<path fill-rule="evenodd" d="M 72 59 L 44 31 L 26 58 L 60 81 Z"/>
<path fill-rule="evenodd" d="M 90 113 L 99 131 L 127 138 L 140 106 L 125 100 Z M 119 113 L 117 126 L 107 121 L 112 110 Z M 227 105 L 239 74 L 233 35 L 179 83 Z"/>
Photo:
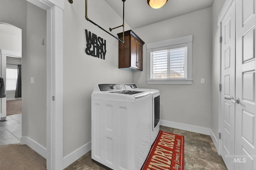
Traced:
<path fill-rule="evenodd" d="M 92 160 L 114 170 L 140 170 L 151 148 L 152 94 L 98 84 L 91 97 Z"/>

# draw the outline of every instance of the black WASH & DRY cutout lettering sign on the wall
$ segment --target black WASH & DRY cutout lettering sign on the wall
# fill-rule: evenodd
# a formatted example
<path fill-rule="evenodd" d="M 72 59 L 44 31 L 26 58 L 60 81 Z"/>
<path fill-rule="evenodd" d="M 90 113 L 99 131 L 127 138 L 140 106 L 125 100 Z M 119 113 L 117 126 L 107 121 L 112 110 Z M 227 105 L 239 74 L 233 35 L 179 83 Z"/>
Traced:
<path fill-rule="evenodd" d="M 97 35 L 87 31 L 87 29 L 85 29 L 85 35 L 87 42 L 85 49 L 86 54 L 105 60 L 107 52 L 106 40 L 101 37 L 97 37 Z"/>

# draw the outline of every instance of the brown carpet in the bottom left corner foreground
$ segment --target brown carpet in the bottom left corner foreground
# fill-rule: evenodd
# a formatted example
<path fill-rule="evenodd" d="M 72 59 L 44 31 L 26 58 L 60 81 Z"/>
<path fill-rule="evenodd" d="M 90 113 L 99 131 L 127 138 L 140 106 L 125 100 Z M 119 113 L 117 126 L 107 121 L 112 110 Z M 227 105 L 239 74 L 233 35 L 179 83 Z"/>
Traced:
<path fill-rule="evenodd" d="M 0 158 L 0 170 L 46 170 L 46 159 L 27 145 L 2 145 Z"/>

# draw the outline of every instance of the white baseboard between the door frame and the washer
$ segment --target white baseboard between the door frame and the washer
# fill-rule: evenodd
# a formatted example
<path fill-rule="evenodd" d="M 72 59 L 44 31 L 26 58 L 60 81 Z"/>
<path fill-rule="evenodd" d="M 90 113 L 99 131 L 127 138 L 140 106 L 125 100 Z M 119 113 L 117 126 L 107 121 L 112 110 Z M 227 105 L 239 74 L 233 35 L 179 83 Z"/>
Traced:
<path fill-rule="evenodd" d="M 68 167 L 70 164 L 78 160 L 81 156 L 86 154 L 92 149 L 91 141 L 86 143 L 84 146 L 78 148 L 74 152 L 70 153 L 69 155 L 63 158 L 63 169 Z"/>

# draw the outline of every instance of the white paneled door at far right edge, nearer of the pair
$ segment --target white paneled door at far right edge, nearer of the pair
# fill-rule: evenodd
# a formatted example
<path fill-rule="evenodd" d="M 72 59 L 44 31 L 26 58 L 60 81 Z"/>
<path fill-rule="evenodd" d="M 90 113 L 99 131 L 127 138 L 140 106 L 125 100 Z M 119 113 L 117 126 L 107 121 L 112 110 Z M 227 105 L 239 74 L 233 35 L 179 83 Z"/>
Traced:
<path fill-rule="evenodd" d="M 255 19 L 255 0 L 236 0 L 236 170 L 256 170 Z"/>

